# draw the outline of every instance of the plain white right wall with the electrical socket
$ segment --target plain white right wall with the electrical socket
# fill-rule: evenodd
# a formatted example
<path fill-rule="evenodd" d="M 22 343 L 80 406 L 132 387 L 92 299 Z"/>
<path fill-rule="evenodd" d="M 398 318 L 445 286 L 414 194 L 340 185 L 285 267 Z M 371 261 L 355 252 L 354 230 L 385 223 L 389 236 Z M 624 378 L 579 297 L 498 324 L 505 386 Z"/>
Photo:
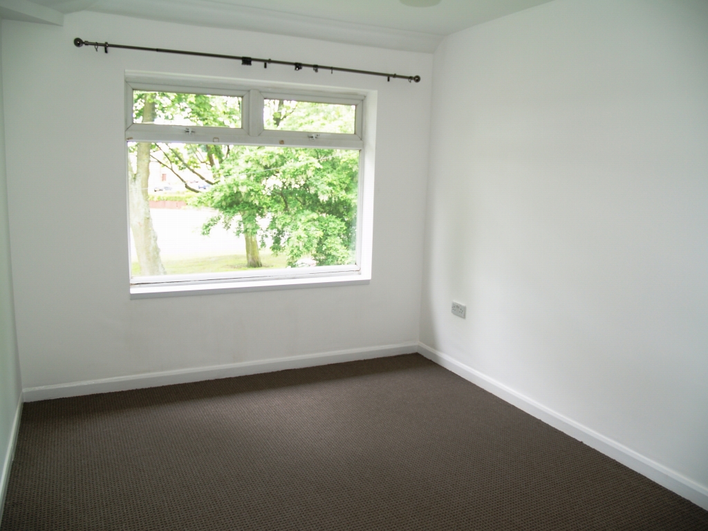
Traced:
<path fill-rule="evenodd" d="M 451 35 L 432 115 L 421 342 L 708 492 L 708 4 Z"/>

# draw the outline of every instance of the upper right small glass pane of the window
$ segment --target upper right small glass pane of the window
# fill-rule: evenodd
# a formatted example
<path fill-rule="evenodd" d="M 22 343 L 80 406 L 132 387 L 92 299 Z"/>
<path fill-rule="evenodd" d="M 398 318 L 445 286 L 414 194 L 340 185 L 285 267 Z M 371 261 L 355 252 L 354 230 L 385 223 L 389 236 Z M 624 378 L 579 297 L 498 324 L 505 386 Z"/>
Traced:
<path fill-rule="evenodd" d="M 354 134 L 356 105 L 309 101 L 265 100 L 265 129 Z"/>

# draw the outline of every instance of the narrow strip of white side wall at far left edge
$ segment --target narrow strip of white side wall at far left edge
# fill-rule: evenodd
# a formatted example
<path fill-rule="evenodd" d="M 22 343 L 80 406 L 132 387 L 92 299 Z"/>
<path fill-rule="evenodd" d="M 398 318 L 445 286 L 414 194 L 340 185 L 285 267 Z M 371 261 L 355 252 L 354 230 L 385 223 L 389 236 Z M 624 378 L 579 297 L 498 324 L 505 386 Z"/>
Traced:
<path fill-rule="evenodd" d="M 0 42 L 1 40 L 2 35 L 0 32 Z M 0 62 L 0 520 L 2 520 L 6 481 L 11 464 L 11 450 L 16 428 L 15 417 L 21 395 L 10 264 L 10 230 L 7 215 L 7 179 L 5 172 L 5 128 L 3 125 L 2 102 L 2 64 Z"/>

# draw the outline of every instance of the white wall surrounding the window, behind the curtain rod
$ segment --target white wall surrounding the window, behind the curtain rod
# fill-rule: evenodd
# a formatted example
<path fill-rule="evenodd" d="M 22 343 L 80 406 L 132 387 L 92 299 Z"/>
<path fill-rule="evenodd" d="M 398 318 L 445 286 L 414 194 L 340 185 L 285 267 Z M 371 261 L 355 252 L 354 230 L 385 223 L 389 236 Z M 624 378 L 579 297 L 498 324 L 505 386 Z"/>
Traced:
<path fill-rule="evenodd" d="M 98 13 L 69 15 L 64 27 L 4 21 L 3 30 L 23 387 L 417 341 L 432 55 Z M 411 72 L 423 81 L 127 50 L 106 55 L 77 49 L 75 37 Z M 126 69 L 377 90 L 370 284 L 130 300 Z"/>

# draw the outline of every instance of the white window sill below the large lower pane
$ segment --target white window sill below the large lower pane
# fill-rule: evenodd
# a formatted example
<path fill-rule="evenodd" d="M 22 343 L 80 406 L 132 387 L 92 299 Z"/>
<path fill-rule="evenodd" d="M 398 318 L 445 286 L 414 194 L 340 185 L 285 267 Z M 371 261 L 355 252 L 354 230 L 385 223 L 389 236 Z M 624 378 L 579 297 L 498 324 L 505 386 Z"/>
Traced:
<path fill-rule="evenodd" d="M 272 278 L 258 280 L 209 281 L 192 284 L 132 285 L 131 299 L 154 299 L 159 297 L 185 297 L 187 295 L 217 295 L 252 291 L 293 290 L 302 287 L 328 287 L 368 284 L 370 275 L 348 273 L 336 276 L 313 278 Z"/>

